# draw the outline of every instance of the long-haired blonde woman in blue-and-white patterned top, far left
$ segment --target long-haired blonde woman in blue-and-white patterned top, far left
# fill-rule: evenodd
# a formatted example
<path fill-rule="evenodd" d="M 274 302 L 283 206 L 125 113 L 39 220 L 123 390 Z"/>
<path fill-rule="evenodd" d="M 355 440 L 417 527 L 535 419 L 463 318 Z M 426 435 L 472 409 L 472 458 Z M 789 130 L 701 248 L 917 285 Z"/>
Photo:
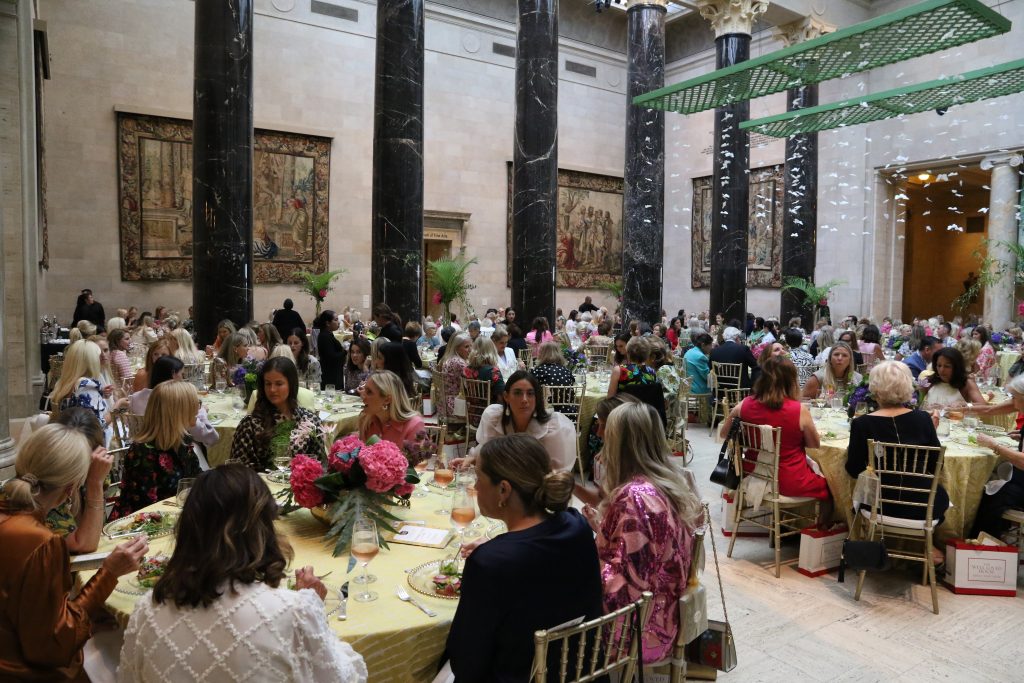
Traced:
<path fill-rule="evenodd" d="M 87 408 L 102 425 L 105 442 L 109 442 L 113 435 L 110 427 L 114 421 L 114 412 L 125 408 L 128 399 L 119 398 L 113 403 L 108 400 L 114 393 L 114 387 L 104 385 L 99 380 L 101 353 L 99 346 L 86 339 L 68 347 L 60 379 L 50 392 L 50 417 L 56 417 L 75 405 Z"/>

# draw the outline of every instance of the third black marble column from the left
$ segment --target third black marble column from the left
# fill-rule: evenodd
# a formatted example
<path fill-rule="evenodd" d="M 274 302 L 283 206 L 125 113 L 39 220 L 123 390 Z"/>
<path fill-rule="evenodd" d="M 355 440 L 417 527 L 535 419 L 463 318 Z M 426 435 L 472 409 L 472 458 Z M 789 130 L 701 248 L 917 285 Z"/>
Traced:
<path fill-rule="evenodd" d="M 519 0 L 512 155 L 512 305 L 554 327 L 558 0 Z"/>

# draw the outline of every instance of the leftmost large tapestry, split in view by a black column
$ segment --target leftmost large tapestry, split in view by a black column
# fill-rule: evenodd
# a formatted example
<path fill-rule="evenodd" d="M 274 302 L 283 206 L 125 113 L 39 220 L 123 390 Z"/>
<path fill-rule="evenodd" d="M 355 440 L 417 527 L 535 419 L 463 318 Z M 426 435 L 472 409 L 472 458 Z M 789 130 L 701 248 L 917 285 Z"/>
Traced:
<path fill-rule="evenodd" d="M 191 280 L 191 122 L 118 113 L 121 279 Z M 328 264 L 331 140 L 256 129 L 255 283 Z"/>

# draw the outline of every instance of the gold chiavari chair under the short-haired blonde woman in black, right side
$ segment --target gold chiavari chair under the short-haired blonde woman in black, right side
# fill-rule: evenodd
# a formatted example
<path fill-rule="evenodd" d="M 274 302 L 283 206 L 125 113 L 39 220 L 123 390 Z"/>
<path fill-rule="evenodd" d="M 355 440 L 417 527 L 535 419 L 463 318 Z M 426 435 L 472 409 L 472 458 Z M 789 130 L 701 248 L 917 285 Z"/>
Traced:
<path fill-rule="evenodd" d="M 932 563 L 933 533 L 938 524 L 934 517 L 935 492 L 942 475 L 946 446 L 903 445 L 867 439 L 867 454 L 878 475 L 878 496 L 869 507 L 861 507 L 854 519 L 857 536 L 866 536 L 873 541 L 876 533 L 883 538 L 897 538 L 904 542 L 899 549 L 889 549 L 890 558 L 912 560 L 924 564 L 922 583 L 932 589 L 932 611 L 939 613 L 939 596 L 936 590 L 935 565 Z M 927 499 L 922 501 L 922 499 Z M 924 511 L 924 519 L 905 519 L 885 514 L 886 504 L 910 506 Z M 859 522 L 867 524 L 865 533 Z M 921 550 L 910 548 L 913 542 L 921 544 Z M 858 572 L 857 592 L 854 600 L 860 600 L 866 571 Z"/>

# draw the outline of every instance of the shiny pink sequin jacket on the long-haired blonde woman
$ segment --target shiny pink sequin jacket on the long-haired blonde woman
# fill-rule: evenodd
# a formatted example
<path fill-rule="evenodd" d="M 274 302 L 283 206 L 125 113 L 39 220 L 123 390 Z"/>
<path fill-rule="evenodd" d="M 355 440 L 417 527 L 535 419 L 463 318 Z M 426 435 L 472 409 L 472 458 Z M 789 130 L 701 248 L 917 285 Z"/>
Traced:
<path fill-rule="evenodd" d="M 654 594 L 644 631 L 645 663 L 672 653 L 692 547 L 693 531 L 646 479 L 636 477 L 612 494 L 597 535 L 604 608 L 624 607 L 639 600 L 644 591 Z"/>

